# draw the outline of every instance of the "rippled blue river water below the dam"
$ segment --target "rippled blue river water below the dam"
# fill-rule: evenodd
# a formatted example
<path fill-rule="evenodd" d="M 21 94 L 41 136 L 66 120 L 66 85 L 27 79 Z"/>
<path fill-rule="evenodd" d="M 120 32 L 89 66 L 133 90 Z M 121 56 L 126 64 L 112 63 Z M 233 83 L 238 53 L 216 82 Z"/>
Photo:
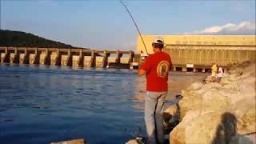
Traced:
<path fill-rule="evenodd" d="M 203 76 L 170 74 L 165 108 Z M 137 70 L 0 64 L 0 143 L 125 143 L 146 134 L 145 85 Z"/>

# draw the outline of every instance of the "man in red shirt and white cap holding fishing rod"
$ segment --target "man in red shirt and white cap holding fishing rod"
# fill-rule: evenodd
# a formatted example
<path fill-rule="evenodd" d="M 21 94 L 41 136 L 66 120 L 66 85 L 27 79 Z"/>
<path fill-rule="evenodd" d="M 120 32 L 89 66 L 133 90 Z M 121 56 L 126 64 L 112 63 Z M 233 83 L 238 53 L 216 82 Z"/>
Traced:
<path fill-rule="evenodd" d="M 150 144 L 164 142 L 162 112 L 168 90 L 168 73 L 172 66 L 170 55 L 162 51 L 162 38 L 154 38 L 152 47 L 154 54 L 150 54 L 138 70 L 138 76 L 146 74 L 144 118 Z"/>

